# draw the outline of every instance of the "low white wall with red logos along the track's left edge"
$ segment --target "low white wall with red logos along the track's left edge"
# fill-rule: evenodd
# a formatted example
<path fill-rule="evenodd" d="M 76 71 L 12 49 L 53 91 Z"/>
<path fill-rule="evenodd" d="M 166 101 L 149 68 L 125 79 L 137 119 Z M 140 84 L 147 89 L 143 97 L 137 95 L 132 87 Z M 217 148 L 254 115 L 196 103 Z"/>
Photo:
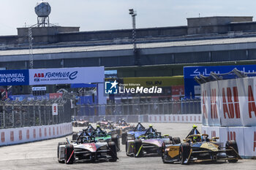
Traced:
<path fill-rule="evenodd" d="M 53 139 L 72 134 L 72 123 L 0 129 L 0 146 Z"/>

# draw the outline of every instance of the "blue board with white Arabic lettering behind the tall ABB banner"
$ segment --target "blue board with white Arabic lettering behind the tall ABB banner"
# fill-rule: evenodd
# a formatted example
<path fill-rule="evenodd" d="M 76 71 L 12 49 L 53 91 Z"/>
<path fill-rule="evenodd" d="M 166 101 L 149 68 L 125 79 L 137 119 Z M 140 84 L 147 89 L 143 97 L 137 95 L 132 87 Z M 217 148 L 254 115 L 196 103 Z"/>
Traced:
<path fill-rule="evenodd" d="M 240 65 L 240 66 L 185 66 L 184 67 L 184 90 L 185 98 L 195 98 L 200 96 L 200 85 L 194 80 L 194 77 L 209 76 L 211 72 L 216 74 L 224 74 L 231 72 L 233 69 L 242 72 L 256 72 L 256 65 Z"/>

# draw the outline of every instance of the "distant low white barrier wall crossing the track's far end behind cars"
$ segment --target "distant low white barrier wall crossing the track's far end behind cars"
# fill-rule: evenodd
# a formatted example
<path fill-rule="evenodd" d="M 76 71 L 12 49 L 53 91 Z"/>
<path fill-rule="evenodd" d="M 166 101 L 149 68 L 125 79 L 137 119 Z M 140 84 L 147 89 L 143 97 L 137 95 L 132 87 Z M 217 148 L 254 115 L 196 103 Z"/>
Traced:
<path fill-rule="evenodd" d="M 126 120 L 128 123 L 202 123 L 202 115 L 200 114 L 182 114 L 182 115 L 105 115 L 76 117 L 89 120 L 90 123 L 97 123 L 105 117 L 107 120 L 117 122 L 120 119 Z"/>

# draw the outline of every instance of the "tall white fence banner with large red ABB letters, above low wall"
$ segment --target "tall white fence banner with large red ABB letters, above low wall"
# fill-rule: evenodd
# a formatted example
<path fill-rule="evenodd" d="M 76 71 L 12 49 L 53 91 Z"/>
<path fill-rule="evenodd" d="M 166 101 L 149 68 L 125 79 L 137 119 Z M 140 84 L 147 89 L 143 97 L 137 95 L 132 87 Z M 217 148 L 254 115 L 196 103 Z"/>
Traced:
<path fill-rule="evenodd" d="M 256 77 L 201 85 L 203 125 L 256 125 Z"/>

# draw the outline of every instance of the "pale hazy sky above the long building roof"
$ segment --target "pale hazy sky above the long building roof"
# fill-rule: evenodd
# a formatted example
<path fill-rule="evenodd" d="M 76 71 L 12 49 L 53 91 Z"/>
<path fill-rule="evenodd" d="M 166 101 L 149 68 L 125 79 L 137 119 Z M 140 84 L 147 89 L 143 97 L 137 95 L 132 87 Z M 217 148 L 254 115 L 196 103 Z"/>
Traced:
<path fill-rule="evenodd" d="M 0 36 L 17 35 L 17 28 L 37 23 L 39 0 L 0 0 Z M 132 28 L 129 9 L 137 11 L 137 28 L 187 26 L 187 18 L 253 16 L 255 0 L 44 0 L 51 7 L 50 23 L 80 26 L 80 31 Z M 254 18 L 254 20 L 256 20 Z"/>

